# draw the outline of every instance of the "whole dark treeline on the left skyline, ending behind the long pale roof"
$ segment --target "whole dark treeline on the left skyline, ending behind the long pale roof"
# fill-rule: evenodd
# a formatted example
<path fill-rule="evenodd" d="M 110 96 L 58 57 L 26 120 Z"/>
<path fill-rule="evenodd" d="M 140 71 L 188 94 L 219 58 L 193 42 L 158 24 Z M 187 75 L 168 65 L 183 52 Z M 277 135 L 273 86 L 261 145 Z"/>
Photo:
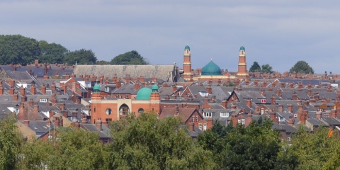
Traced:
<path fill-rule="evenodd" d="M 92 50 L 67 50 L 55 42 L 35 40 L 22 35 L 0 35 L 0 64 L 40 63 L 67 64 L 149 64 L 147 60 L 132 50 L 114 57 L 111 62 L 98 61 Z"/>

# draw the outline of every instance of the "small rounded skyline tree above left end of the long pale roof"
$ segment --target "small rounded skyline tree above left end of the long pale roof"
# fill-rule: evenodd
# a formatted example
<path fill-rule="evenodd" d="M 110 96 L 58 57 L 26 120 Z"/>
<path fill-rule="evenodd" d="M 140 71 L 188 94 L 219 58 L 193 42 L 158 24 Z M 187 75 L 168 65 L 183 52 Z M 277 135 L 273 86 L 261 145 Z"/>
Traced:
<path fill-rule="evenodd" d="M 94 52 L 85 49 L 67 52 L 64 59 L 64 62 L 67 62 L 68 64 L 95 64 L 97 61 Z"/>

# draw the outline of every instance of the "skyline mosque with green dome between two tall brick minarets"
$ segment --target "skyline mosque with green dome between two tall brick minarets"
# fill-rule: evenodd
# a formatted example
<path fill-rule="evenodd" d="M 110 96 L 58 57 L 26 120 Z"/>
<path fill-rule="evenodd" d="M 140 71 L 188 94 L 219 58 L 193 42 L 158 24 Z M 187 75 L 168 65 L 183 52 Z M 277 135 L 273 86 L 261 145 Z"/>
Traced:
<path fill-rule="evenodd" d="M 196 80 L 222 80 L 227 79 L 249 79 L 249 73 L 246 70 L 246 50 L 244 46 L 239 48 L 239 64 L 237 69 L 237 74 L 231 75 L 229 72 L 222 72 L 222 69 L 218 67 L 212 60 L 206 64 L 202 69 L 199 69 L 198 73 L 194 73 L 191 69 L 191 53 L 190 47 L 186 45 L 184 47 L 183 56 L 183 79 L 186 81 L 196 81 Z"/>

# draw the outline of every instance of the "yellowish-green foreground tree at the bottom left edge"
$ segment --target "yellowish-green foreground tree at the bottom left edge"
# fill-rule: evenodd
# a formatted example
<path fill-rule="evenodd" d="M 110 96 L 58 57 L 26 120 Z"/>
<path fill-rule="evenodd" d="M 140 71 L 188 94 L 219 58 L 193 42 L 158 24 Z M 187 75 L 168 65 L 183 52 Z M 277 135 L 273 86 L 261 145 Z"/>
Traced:
<path fill-rule="evenodd" d="M 0 169 L 15 169 L 18 164 L 23 137 L 14 123 L 16 119 L 10 116 L 0 121 Z"/>

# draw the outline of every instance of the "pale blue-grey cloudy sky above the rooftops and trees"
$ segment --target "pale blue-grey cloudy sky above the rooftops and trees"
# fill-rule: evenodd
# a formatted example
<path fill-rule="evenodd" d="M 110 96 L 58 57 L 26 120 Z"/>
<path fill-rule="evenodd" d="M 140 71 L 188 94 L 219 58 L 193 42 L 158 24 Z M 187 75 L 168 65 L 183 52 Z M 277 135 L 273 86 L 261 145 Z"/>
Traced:
<path fill-rule="evenodd" d="M 289 71 L 300 60 L 340 74 L 340 1 L 1 0 L 0 34 L 92 50 L 98 60 L 131 50 L 151 64 L 192 68 L 210 60 L 237 72 L 239 47 L 255 61 Z"/>

